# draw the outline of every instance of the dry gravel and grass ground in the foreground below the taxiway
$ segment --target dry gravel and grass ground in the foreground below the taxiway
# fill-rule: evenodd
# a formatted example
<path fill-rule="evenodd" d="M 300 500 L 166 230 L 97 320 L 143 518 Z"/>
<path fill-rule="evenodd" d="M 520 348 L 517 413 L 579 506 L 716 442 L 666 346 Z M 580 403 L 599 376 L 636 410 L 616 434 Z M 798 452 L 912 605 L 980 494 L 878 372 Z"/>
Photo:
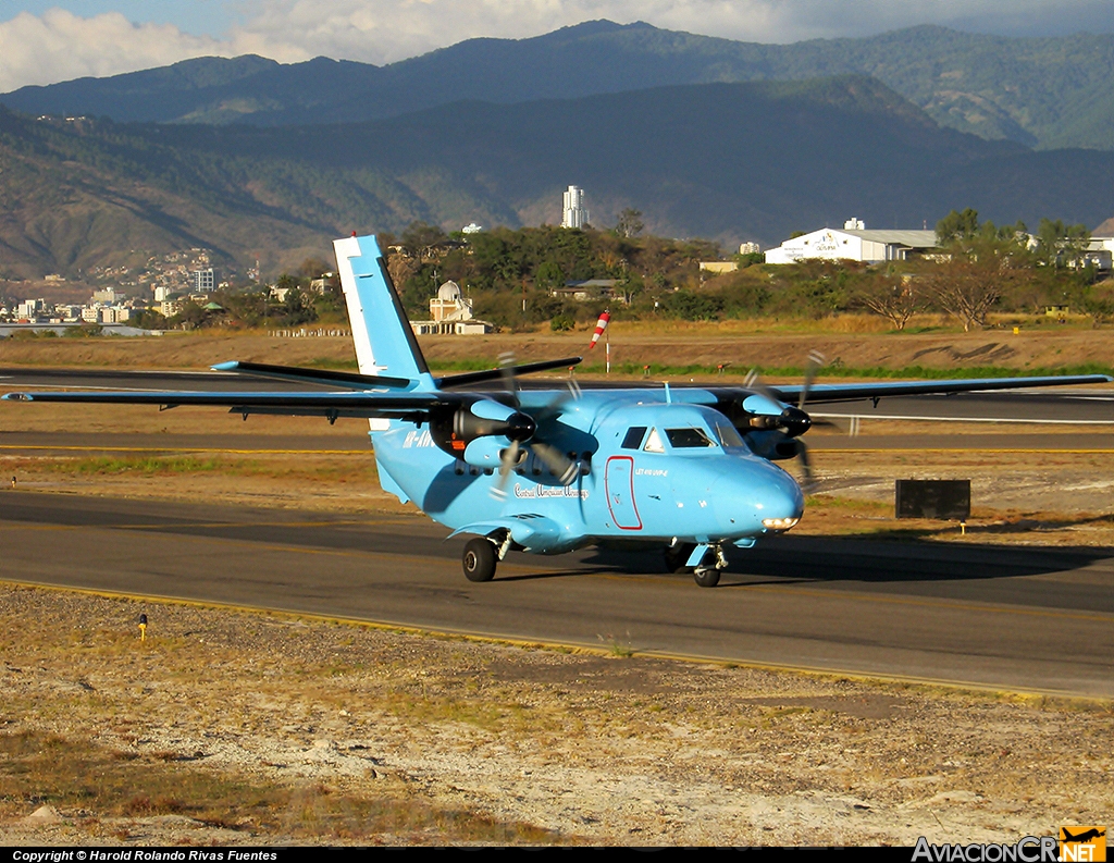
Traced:
<path fill-rule="evenodd" d="M 0 755 L 0 844 L 446 841 L 369 832 L 354 805 L 309 824 L 330 789 L 547 831 L 535 841 L 646 845 L 1013 842 L 1114 808 L 1107 702 L 2 583 L 0 614 L 0 744 L 57 735 L 301 795 L 241 823 L 120 814 L 95 794 L 2 791 L 20 762 Z"/>

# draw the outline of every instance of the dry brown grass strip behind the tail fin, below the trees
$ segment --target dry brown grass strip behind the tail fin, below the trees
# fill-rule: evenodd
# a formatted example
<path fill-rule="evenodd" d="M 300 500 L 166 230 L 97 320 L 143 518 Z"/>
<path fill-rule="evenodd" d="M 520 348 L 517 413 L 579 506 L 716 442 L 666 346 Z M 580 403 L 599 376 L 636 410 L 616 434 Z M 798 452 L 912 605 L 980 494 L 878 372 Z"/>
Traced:
<path fill-rule="evenodd" d="M 727 376 L 742 376 L 753 366 L 797 368 L 810 350 L 820 350 L 830 363 L 847 369 L 902 369 L 924 367 L 955 369 L 996 366 L 1004 368 L 1057 368 L 1096 363 L 1108 367 L 1114 331 L 1083 327 L 1043 324 L 965 333 L 934 327 L 926 332 L 892 333 L 876 318 L 843 316 L 833 321 L 785 324 L 726 321 L 720 323 L 617 321 L 609 328 L 616 366 L 632 367 L 641 377 L 649 363 L 671 368 L 726 365 Z M 306 327 L 313 332 L 315 326 Z M 329 329 L 329 328 L 324 328 Z M 597 347 L 587 352 L 590 330 L 556 333 L 499 333 L 477 337 L 424 337 L 422 350 L 434 367 L 495 366 L 505 351 L 519 361 L 586 356 L 586 362 L 603 362 Z M 597 356 L 600 355 L 600 356 Z M 236 333 L 206 330 L 169 332 L 150 338 L 3 339 L 3 366 L 57 366 L 100 368 L 205 369 L 214 362 L 252 360 L 284 365 L 354 367 L 352 340 L 340 336 L 275 338 L 260 332 Z"/>

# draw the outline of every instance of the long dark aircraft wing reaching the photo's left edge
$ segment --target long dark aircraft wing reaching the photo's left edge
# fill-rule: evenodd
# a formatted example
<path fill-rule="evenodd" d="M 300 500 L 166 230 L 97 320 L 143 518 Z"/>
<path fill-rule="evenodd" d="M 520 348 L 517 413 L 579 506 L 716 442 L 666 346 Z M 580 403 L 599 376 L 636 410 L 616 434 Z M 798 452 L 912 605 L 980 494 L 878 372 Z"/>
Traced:
<path fill-rule="evenodd" d="M 199 392 L 130 390 L 121 392 L 8 392 L 7 401 L 69 401 L 92 405 L 179 405 L 227 407 L 233 414 L 280 414 L 284 416 L 420 418 L 441 406 L 461 403 L 443 392 Z"/>

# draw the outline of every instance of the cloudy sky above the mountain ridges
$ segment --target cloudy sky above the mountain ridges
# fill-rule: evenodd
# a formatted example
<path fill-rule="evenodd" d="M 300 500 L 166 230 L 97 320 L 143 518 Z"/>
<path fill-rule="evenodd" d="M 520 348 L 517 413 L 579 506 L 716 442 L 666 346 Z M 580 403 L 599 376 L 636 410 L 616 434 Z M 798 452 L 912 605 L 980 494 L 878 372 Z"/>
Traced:
<path fill-rule="evenodd" d="M 203 56 L 381 65 L 599 18 L 780 43 L 921 23 L 1064 36 L 1114 32 L 1114 0 L 0 0 L 0 93 Z"/>

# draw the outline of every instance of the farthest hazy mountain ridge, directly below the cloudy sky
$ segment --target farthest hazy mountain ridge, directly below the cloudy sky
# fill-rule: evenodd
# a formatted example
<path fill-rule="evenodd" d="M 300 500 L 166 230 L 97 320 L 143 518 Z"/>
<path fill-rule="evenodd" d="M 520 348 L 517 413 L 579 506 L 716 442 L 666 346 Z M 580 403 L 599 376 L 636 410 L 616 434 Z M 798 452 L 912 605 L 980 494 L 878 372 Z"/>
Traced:
<path fill-rule="evenodd" d="M 576 98 L 680 84 L 869 75 L 942 125 L 1038 147 L 1114 148 L 1114 36 L 979 36 L 922 26 L 760 45 L 590 21 L 532 39 L 470 39 L 384 67 L 202 58 L 0 97 L 32 114 L 119 122 L 362 122 L 462 99 Z"/>

